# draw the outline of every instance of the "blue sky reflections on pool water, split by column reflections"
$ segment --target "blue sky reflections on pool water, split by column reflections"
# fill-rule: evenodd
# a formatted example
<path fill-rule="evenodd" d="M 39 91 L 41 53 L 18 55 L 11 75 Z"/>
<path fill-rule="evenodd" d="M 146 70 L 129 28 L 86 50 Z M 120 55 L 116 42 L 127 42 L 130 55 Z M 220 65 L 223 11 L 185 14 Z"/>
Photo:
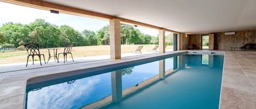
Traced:
<path fill-rule="evenodd" d="M 166 65 L 168 65 L 166 67 L 172 68 L 173 59 L 169 58 L 166 60 Z M 121 91 L 129 87 L 138 86 L 142 81 L 158 75 L 158 64 L 158 61 L 155 61 L 121 69 L 122 79 L 118 81 L 121 82 L 121 87 L 119 87 Z M 115 78 L 118 79 L 118 77 Z M 79 108 L 111 95 L 113 90 L 111 87 L 118 85 L 111 84 L 111 82 L 113 82 L 113 75 L 109 72 L 61 83 L 57 80 L 52 80 L 48 81 L 47 85 L 44 83 L 40 84 L 44 87 L 39 87 L 38 84 L 28 85 L 26 107 Z"/>

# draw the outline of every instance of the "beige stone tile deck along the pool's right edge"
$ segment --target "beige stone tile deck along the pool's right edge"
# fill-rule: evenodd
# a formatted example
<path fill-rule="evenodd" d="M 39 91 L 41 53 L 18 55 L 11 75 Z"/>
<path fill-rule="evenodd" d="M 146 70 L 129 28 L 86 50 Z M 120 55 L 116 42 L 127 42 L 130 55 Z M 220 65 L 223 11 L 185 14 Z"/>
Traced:
<path fill-rule="evenodd" d="M 256 52 L 225 52 L 221 109 L 256 108 Z"/>

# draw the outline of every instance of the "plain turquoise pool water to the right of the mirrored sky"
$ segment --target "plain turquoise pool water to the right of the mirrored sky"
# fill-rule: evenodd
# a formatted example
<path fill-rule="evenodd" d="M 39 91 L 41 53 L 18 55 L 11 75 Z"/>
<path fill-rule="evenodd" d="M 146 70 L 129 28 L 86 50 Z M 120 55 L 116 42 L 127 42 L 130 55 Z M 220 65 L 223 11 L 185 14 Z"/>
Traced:
<path fill-rule="evenodd" d="M 176 72 L 102 108 L 216 109 L 221 93 L 223 56 L 208 55 L 208 66 L 202 64 L 202 59 L 202 55 L 179 56 Z"/>

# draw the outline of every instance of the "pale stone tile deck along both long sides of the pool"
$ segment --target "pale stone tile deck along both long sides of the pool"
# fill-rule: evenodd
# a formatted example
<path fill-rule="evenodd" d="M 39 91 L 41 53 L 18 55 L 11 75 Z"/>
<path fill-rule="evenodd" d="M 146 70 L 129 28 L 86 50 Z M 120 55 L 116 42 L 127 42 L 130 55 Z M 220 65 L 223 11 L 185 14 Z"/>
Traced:
<path fill-rule="evenodd" d="M 99 60 L 68 65 L 17 70 L 0 73 L 0 108 L 23 108 L 27 79 L 35 76 L 69 72 L 102 65 L 146 59 L 153 56 L 181 53 L 147 54 L 123 57 L 122 60 Z M 2 69 L 2 68 L 1 68 Z M 14 68 L 15 69 L 15 68 Z M 18 68 L 19 69 L 19 68 Z M 256 108 L 256 52 L 225 51 L 221 108 Z"/>

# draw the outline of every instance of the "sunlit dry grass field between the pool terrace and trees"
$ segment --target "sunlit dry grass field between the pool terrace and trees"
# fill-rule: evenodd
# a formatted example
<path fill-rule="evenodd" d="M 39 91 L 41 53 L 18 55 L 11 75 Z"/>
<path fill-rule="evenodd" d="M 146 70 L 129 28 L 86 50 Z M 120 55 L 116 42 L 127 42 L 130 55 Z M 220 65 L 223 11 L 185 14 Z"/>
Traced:
<path fill-rule="evenodd" d="M 139 45 L 122 45 L 121 52 L 122 53 L 132 53 Z M 144 46 L 141 52 L 146 52 L 154 48 L 155 45 L 142 45 Z M 172 49 L 172 46 L 167 46 L 166 50 Z M 59 48 L 58 53 L 63 52 L 64 48 Z M 53 53 L 53 51 L 50 51 Z M 48 60 L 48 50 L 40 49 L 40 53 L 45 55 L 45 60 Z M 83 47 L 73 47 L 72 54 L 74 57 L 86 57 L 86 56 L 97 56 L 97 55 L 109 55 L 110 54 L 110 46 L 83 46 Z M 53 54 L 52 54 L 53 55 Z M 59 55 L 59 58 L 62 59 L 63 55 Z M 53 59 L 53 57 L 51 57 Z M 29 61 L 32 60 L 32 57 L 29 57 Z M 34 60 L 39 60 L 37 56 L 35 56 Z M 27 51 L 26 50 L 17 50 L 15 52 L 5 52 L 0 53 L 0 64 L 5 63 L 16 63 L 16 62 L 26 62 L 27 61 Z"/>

